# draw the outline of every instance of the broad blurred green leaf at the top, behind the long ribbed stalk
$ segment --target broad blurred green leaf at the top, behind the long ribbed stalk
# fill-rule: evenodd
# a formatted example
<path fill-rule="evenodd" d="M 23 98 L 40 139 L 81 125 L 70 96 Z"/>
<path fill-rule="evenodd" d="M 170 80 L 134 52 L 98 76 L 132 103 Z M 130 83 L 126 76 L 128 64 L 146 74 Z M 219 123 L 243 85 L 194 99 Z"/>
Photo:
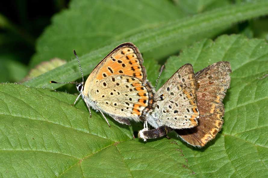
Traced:
<path fill-rule="evenodd" d="M 39 38 L 31 65 L 54 57 L 68 60 L 73 58 L 73 49 L 84 55 L 185 16 L 170 1 L 73 0 L 68 10 L 52 18 L 52 25 Z"/>

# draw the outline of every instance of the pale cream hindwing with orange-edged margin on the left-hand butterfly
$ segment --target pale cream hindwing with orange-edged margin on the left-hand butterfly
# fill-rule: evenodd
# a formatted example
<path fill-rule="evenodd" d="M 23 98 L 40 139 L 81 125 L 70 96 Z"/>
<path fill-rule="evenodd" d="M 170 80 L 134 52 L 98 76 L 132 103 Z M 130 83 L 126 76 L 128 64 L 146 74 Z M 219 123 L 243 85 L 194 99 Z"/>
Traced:
<path fill-rule="evenodd" d="M 136 77 L 112 75 L 91 87 L 91 97 L 97 107 L 120 123 L 129 125 L 126 119 L 141 121 L 143 113 L 153 103 L 151 86 L 143 86 Z"/>

